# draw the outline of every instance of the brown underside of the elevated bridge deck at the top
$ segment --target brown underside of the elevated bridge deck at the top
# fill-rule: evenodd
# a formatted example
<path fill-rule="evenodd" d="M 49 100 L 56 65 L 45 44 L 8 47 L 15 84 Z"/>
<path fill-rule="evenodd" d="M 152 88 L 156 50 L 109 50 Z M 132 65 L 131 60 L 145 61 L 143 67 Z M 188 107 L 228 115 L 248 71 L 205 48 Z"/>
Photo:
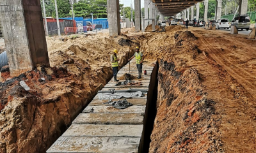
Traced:
<path fill-rule="evenodd" d="M 152 0 L 157 10 L 164 16 L 173 16 L 180 11 L 186 10 L 202 0 Z"/>

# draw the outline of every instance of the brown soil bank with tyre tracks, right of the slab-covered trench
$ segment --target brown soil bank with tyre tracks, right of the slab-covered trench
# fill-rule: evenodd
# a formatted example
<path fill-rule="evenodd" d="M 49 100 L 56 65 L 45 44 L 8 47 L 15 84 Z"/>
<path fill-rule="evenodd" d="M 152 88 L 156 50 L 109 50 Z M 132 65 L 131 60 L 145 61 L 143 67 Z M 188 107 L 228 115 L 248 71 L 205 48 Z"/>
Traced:
<path fill-rule="evenodd" d="M 255 152 L 255 41 L 166 29 L 144 34 L 140 43 L 160 64 L 150 152 Z"/>

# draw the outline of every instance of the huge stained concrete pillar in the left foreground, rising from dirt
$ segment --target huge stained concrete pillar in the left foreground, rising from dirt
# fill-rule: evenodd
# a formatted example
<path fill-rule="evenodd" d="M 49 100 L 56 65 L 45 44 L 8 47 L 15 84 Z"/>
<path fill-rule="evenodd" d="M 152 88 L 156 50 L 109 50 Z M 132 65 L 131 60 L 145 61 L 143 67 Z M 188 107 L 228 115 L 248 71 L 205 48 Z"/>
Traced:
<path fill-rule="evenodd" d="M 11 76 L 50 66 L 40 0 L 0 0 L 0 14 Z"/>

